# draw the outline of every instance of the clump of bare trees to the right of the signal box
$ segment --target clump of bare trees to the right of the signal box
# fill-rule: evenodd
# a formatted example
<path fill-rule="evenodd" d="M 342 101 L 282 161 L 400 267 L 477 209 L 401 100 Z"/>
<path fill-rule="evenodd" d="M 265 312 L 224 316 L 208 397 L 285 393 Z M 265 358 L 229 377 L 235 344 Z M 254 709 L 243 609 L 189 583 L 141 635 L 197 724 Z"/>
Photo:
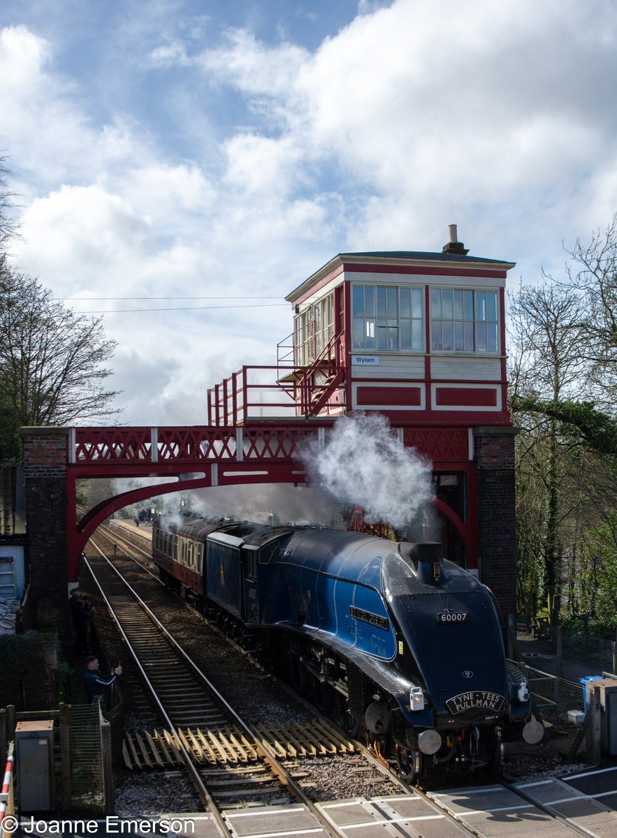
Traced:
<path fill-rule="evenodd" d="M 561 281 L 511 299 L 519 590 L 602 619 L 617 604 L 617 215 L 566 252 Z"/>

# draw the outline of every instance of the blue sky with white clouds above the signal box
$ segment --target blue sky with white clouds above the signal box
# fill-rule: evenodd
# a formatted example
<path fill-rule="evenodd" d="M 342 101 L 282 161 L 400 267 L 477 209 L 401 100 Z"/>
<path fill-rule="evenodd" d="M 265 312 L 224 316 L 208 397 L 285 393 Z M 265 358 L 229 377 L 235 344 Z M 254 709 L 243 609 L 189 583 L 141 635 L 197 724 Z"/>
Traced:
<path fill-rule="evenodd" d="M 340 252 L 516 262 L 617 211 L 613 0 L 4 0 L 16 266 L 117 341 L 125 425 L 275 365 Z"/>

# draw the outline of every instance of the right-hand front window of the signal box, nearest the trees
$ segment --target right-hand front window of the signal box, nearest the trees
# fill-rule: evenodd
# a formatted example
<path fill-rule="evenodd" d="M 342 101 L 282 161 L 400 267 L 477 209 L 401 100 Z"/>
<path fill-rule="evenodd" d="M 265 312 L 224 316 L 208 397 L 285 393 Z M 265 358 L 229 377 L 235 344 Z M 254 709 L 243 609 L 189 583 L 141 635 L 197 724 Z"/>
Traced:
<path fill-rule="evenodd" d="M 497 292 L 431 289 L 431 349 L 497 352 Z"/>

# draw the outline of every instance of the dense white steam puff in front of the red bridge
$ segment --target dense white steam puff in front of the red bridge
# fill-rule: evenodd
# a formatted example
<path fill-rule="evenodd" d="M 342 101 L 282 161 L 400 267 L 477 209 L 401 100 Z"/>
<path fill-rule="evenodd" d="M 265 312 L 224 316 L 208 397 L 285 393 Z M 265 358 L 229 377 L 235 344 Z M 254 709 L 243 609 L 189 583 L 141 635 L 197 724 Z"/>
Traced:
<path fill-rule="evenodd" d="M 379 413 L 338 419 L 324 450 L 314 444 L 303 460 L 315 484 L 362 507 L 370 523 L 409 528 L 434 497 L 431 463 L 404 447 Z"/>

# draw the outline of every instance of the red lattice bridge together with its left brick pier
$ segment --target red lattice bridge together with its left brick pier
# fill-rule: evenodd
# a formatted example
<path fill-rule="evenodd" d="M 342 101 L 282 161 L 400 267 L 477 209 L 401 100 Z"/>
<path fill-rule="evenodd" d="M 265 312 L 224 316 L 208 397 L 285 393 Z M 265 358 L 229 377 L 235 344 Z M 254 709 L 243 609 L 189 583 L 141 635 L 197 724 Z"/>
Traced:
<path fill-rule="evenodd" d="M 161 494 L 224 485 L 307 484 L 303 450 L 324 447 L 334 421 L 263 420 L 233 427 L 23 427 L 33 595 L 52 596 L 56 589 L 53 598 L 65 601 L 67 583 L 77 580 L 86 542 L 101 521 L 124 506 Z M 472 569 L 478 566 L 477 522 L 482 506 L 481 497 L 476 502 L 478 468 L 484 467 L 485 477 L 492 475 L 495 482 L 491 451 L 495 442 L 508 440 L 510 429 L 473 430 L 392 428 L 404 446 L 432 460 L 435 473 L 464 475 L 465 491 L 472 499 L 469 507 L 456 509 L 447 497 L 437 497 L 435 505 L 464 545 Z M 503 474 L 501 455 L 497 464 Z M 345 463 L 340 468 L 345 469 Z M 85 515 L 78 514 L 80 480 L 127 478 L 148 478 L 148 484 L 116 494 L 110 489 Z"/>

